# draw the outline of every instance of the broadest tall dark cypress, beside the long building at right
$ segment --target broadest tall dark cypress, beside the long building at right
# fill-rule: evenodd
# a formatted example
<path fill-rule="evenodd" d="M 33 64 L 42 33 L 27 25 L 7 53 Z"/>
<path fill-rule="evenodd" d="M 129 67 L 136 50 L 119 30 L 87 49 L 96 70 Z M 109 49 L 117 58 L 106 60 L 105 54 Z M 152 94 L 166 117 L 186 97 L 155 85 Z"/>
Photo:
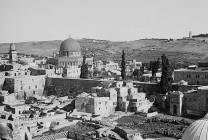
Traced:
<path fill-rule="evenodd" d="M 161 56 L 162 60 L 162 76 L 160 81 L 161 92 L 166 94 L 167 92 L 172 90 L 172 74 L 173 74 L 173 67 L 169 63 L 168 58 L 163 54 Z"/>

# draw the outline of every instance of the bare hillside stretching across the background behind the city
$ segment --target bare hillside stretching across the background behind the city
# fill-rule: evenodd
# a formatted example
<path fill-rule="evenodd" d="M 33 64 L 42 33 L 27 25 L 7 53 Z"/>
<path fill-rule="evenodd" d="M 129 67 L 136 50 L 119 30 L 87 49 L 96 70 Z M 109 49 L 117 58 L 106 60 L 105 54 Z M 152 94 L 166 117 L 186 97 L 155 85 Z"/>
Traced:
<path fill-rule="evenodd" d="M 95 59 L 120 60 L 121 50 L 126 50 L 127 59 L 149 62 L 165 53 L 172 61 L 178 63 L 196 63 L 208 58 L 208 43 L 194 39 L 141 39 L 135 41 L 112 42 L 106 40 L 78 40 L 82 53 L 94 56 Z M 16 43 L 19 53 L 51 56 L 58 50 L 60 40 Z M 9 43 L 0 44 L 0 52 L 6 53 Z"/>

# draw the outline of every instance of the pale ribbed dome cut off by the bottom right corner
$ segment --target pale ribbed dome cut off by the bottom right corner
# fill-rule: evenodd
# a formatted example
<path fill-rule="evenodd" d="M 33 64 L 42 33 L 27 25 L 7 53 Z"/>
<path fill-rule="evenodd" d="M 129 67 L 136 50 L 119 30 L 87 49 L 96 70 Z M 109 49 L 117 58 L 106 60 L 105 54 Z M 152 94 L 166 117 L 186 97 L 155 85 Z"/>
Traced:
<path fill-rule="evenodd" d="M 186 129 L 181 140 L 208 140 L 208 118 L 206 116 L 193 122 Z"/>

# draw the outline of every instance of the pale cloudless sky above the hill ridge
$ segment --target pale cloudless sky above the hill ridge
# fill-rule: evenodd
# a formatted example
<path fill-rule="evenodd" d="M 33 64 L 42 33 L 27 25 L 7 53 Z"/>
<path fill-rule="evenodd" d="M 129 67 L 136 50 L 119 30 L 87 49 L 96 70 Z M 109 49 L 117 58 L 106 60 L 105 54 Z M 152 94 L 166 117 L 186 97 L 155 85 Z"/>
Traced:
<path fill-rule="evenodd" d="M 181 38 L 208 32 L 208 0 L 0 0 L 0 43 Z"/>

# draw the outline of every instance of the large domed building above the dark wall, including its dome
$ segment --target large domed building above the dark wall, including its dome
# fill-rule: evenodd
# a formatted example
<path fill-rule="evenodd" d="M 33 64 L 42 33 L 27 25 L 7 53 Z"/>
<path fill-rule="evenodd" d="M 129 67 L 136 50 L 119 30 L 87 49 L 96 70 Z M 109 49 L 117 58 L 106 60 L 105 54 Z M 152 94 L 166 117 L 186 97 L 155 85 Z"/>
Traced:
<path fill-rule="evenodd" d="M 79 43 L 69 37 L 60 45 L 58 66 L 63 68 L 63 76 L 79 78 L 83 57 Z M 93 58 L 86 58 L 90 70 L 93 70 Z"/>

